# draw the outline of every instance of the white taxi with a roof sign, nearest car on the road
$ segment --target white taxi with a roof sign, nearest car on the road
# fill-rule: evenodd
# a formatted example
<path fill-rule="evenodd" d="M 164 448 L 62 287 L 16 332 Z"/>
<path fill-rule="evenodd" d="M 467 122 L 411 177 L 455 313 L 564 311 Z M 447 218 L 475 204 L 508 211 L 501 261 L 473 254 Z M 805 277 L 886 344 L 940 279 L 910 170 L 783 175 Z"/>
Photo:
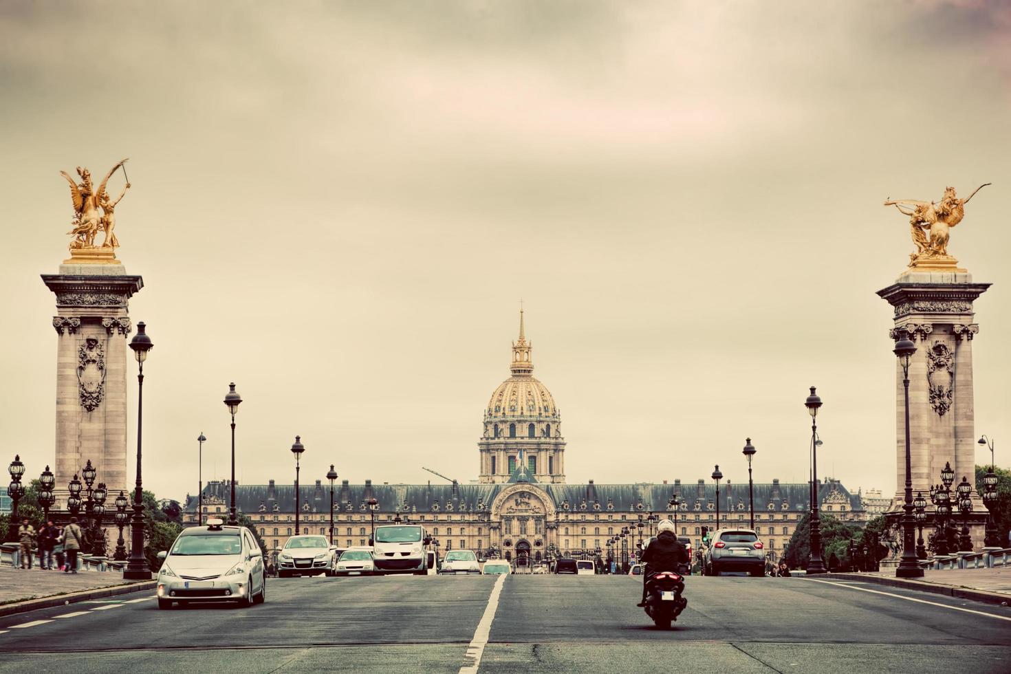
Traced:
<path fill-rule="evenodd" d="M 267 598 L 263 552 L 245 526 L 224 526 L 212 517 L 206 526 L 184 528 L 158 559 L 159 608 L 171 608 L 174 601 L 238 601 L 249 606 Z"/>

